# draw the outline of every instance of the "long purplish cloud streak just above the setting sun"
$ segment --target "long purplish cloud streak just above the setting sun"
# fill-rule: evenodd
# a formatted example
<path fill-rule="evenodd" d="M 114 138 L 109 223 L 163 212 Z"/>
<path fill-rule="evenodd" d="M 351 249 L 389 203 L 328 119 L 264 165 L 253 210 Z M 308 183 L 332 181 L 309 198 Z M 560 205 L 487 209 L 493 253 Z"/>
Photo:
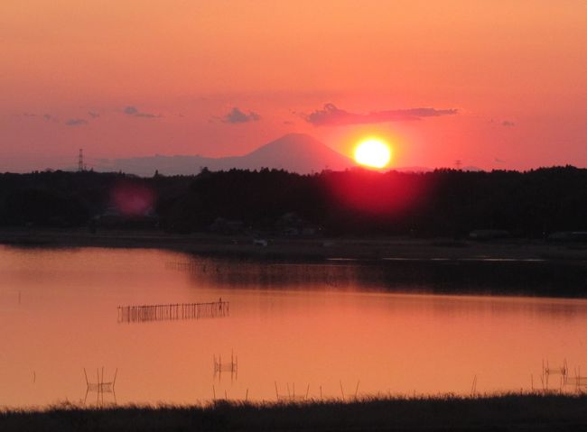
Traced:
<path fill-rule="evenodd" d="M 422 117 L 439 117 L 441 115 L 456 115 L 457 109 L 436 108 L 409 108 L 386 111 L 372 111 L 368 114 L 349 113 L 337 108 L 333 104 L 326 104 L 322 109 L 305 115 L 306 122 L 316 126 L 342 126 L 348 124 L 375 124 L 387 122 L 401 122 L 420 120 Z"/>

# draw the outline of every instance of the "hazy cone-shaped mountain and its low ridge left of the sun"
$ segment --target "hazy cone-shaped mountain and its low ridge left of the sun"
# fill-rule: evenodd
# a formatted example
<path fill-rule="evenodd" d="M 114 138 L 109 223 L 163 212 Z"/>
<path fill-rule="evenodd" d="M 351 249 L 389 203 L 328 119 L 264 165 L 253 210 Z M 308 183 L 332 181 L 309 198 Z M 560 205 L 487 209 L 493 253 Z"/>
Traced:
<path fill-rule="evenodd" d="M 124 171 L 141 177 L 153 176 L 155 170 L 163 175 L 197 174 L 209 170 L 259 170 L 275 168 L 308 174 L 321 170 L 345 170 L 355 166 L 348 157 L 305 133 L 288 133 L 273 142 L 243 156 L 207 158 L 204 156 L 147 156 L 128 159 L 102 159 L 97 170 Z"/>

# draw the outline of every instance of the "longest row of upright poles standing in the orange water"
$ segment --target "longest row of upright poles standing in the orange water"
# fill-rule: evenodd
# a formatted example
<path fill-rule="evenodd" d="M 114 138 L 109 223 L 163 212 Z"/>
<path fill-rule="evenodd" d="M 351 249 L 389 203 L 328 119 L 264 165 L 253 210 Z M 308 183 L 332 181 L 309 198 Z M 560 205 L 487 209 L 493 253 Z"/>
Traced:
<path fill-rule="evenodd" d="M 168 305 L 119 306 L 119 323 L 166 321 L 173 319 L 200 319 L 228 317 L 228 301 L 210 303 L 177 303 Z"/>

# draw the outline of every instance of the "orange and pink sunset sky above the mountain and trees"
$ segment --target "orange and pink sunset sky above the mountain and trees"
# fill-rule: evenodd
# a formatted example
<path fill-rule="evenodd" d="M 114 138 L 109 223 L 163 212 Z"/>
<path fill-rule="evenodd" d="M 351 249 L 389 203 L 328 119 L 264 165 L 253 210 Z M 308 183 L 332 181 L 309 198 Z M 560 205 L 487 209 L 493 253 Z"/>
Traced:
<path fill-rule="evenodd" d="M 0 53 L 0 171 L 292 132 L 377 135 L 392 167 L 587 166 L 582 0 L 3 0 Z"/>

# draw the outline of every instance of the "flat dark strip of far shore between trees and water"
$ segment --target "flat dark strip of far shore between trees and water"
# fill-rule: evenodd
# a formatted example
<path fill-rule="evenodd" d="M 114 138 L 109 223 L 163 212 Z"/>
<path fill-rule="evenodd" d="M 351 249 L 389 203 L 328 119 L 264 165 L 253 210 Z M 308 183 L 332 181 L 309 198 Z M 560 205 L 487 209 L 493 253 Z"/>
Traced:
<path fill-rule="evenodd" d="M 257 242 L 255 241 L 257 240 Z M 409 237 L 284 237 L 218 234 L 169 234 L 162 231 L 88 229 L 0 229 L 0 244 L 21 247 L 156 248 L 183 253 L 238 258 L 323 261 L 505 260 L 587 263 L 587 244 L 543 240 L 420 239 Z"/>

